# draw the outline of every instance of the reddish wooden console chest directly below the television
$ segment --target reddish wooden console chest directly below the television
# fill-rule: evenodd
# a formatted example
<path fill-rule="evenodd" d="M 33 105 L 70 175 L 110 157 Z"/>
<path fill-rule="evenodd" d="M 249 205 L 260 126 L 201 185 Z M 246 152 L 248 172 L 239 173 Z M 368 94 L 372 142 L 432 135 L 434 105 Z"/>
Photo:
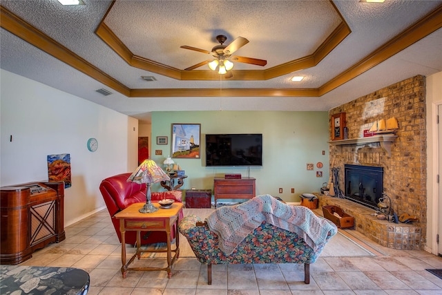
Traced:
<path fill-rule="evenodd" d="M 215 178 L 215 208 L 218 199 L 251 199 L 255 197 L 255 178 Z"/>

